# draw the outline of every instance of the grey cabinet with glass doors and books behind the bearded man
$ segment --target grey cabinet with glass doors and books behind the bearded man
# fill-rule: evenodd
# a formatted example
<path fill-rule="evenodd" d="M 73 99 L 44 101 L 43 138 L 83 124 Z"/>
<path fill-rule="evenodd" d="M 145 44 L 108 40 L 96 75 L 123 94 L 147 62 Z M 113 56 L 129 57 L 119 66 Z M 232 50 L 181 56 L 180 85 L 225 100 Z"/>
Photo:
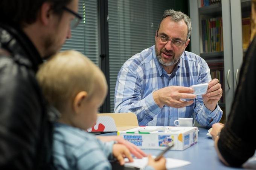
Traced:
<path fill-rule="evenodd" d="M 212 78 L 222 85 L 222 122 L 230 112 L 249 43 L 250 5 L 250 0 L 189 0 L 191 51 L 206 60 Z"/>

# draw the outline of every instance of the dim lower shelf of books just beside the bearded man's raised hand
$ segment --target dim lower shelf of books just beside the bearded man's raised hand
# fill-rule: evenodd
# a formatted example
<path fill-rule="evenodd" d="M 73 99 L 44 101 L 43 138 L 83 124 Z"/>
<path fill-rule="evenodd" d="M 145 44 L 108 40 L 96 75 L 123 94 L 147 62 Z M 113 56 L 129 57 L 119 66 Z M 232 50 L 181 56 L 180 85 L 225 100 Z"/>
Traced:
<path fill-rule="evenodd" d="M 218 103 L 225 103 L 224 63 L 223 62 L 208 63 L 208 66 L 210 68 L 210 75 L 211 75 L 212 79 L 218 79 L 219 80 L 219 84 L 221 84 L 221 88 L 222 88 L 222 91 L 223 91 L 222 97 L 221 97 L 221 99 L 219 100 Z"/>

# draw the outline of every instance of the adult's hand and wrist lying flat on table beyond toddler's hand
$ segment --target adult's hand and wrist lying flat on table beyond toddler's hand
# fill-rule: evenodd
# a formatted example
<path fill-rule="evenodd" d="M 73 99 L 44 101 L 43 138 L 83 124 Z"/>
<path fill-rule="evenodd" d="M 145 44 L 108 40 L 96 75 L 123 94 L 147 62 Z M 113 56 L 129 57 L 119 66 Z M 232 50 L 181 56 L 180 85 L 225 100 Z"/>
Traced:
<path fill-rule="evenodd" d="M 138 148 L 133 143 L 128 142 L 127 140 L 123 139 L 121 136 L 97 136 L 97 138 L 104 142 L 114 140 L 117 143 L 123 144 L 129 149 L 131 154 L 133 154 L 137 158 L 142 158 L 142 157 L 147 156 L 147 154 L 145 154 L 140 148 Z"/>

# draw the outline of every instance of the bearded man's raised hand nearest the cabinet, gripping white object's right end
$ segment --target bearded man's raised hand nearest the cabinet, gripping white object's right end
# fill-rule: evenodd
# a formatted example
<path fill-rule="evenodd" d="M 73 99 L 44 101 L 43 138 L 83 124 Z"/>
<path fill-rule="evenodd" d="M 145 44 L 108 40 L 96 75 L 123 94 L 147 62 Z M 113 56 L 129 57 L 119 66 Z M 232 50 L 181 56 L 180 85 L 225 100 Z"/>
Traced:
<path fill-rule="evenodd" d="M 206 94 L 203 94 L 204 105 L 211 111 L 215 110 L 219 99 L 222 96 L 221 84 L 218 79 L 213 79 L 208 84 Z"/>

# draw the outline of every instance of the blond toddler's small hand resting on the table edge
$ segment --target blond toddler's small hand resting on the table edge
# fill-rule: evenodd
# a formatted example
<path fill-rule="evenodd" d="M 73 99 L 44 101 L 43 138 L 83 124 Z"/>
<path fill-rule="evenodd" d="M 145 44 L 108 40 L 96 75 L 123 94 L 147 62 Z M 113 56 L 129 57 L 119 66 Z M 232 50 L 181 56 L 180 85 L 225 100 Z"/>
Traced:
<path fill-rule="evenodd" d="M 122 144 L 115 143 L 113 145 L 113 155 L 119 161 L 120 165 L 125 164 L 124 158 L 128 158 L 130 162 L 133 162 L 130 151 Z"/>

